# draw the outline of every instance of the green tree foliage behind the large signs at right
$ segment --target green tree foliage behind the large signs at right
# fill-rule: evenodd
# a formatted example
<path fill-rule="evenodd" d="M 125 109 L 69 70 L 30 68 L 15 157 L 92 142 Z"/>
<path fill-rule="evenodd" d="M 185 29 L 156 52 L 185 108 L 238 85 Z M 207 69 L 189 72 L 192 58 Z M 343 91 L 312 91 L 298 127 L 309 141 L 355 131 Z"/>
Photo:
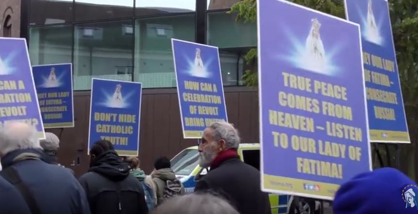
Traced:
<path fill-rule="evenodd" d="M 294 3 L 322 11 L 327 14 L 345 18 L 343 0 L 290 0 Z M 398 70 L 402 85 L 403 102 L 412 145 L 402 146 L 401 157 L 414 156 L 415 144 L 418 141 L 418 2 L 417 0 L 389 0 L 390 18 L 395 42 Z M 237 21 L 257 21 L 257 1 L 241 0 L 234 4 L 230 14 L 237 15 Z M 257 49 L 251 49 L 245 56 L 247 63 L 255 64 L 253 70 L 245 71 L 243 81 L 248 86 L 257 87 Z M 405 162 L 405 164 L 402 164 Z M 413 159 L 401 160 L 406 165 L 403 171 L 414 168 Z M 409 167 L 409 169 L 407 169 Z M 412 169 L 413 170 L 413 169 Z"/>

